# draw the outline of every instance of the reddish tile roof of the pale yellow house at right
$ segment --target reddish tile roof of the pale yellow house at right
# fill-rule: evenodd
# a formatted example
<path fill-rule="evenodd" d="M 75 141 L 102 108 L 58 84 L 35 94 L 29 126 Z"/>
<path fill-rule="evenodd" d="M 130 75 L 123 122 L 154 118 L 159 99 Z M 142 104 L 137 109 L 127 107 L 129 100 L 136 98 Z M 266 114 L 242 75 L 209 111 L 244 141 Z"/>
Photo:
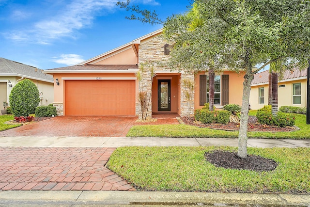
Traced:
<path fill-rule="evenodd" d="M 264 85 L 268 83 L 269 70 L 265 70 L 260 73 L 254 74 L 254 80 L 251 82 L 251 86 Z M 307 79 L 307 69 L 299 70 L 295 68 L 293 71 L 286 70 L 283 74 L 283 79 L 279 82 Z"/>

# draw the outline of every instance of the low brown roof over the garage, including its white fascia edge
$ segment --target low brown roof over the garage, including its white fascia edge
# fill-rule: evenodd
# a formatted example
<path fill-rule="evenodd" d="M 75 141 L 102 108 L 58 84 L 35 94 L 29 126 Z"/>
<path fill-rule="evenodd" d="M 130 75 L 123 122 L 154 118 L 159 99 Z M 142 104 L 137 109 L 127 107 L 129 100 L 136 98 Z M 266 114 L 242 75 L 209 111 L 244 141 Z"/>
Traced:
<path fill-rule="evenodd" d="M 136 64 L 87 64 L 48 69 L 43 73 L 134 73 L 137 71 Z"/>

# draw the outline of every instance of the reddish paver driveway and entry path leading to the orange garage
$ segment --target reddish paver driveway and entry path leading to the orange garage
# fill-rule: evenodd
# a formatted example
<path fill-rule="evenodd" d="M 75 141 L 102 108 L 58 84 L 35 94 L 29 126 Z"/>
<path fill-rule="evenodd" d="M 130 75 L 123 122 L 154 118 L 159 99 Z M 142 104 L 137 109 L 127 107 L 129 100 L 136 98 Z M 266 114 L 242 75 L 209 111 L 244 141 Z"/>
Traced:
<path fill-rule="evenodd" d="M 134 125 L 179 124 L 174 117 L 160 118 L 156 122 L 136 122 L 137 117 L 123 116 L 58 116 L 21 127 L 0 131 L 0 137 L 125 137 Z"/>

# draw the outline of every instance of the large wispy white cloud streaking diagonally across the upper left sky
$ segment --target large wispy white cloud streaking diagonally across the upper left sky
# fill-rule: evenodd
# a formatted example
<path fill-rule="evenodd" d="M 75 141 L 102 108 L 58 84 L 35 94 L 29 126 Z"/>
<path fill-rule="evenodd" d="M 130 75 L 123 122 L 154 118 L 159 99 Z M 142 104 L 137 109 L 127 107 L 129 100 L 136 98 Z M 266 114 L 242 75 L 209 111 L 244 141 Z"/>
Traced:
<path fill-rule="evenodd" d="M 5 36 L 14 40 L 25 40 L 38 44 L 48 44 L 53 39 L 74 38 L 74 32 L 92 24 L 98 11 L 110 11 L 116 7 L 117 0 L 72 0 L 55 15 L 35 22 L 31 30 L 18 29 L 6 32 Z M 66 2 L 64 2 L 66 3 Z M 101 11 L 102 13 L 102 11 Z M 17 12 L 23 15 L 22 11 Z"/>

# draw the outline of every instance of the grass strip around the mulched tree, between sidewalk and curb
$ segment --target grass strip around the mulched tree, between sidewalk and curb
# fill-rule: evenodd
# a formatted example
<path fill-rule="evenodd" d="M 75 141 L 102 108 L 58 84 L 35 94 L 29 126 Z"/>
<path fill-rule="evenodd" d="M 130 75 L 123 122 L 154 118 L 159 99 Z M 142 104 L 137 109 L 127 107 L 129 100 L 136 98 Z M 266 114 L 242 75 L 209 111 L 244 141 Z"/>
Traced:
<path fill-rule="evenodd" d="M 235 147 L 119 147 L 108 167 L 141 191 L 310 193 L 310 148 L 248 148 L 249 155 L 274 159 L 274 171 L 215 167 L 204 158 Z"/>

